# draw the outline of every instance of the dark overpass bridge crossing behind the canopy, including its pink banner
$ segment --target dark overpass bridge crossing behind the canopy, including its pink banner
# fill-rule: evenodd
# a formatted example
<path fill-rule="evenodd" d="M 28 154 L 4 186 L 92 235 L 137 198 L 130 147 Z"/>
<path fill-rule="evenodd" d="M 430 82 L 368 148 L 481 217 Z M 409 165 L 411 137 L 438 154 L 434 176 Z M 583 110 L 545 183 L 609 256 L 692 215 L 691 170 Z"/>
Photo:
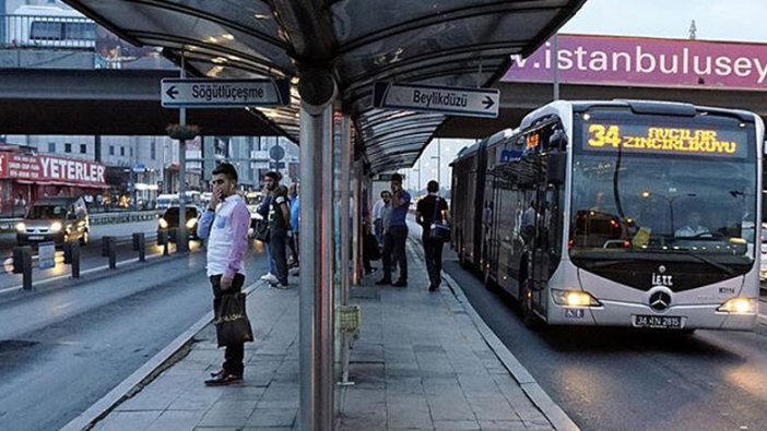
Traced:
<path fill-rule="evenodd" d="M 687 101 L 747 109 L 767 119 L 767 64 L 759 63 L 760 58 L 767 58 L 765 44 L 582 35 L 559 38 L 560 98 Z M 673 49 L 678 57 L 669 53 Z M 500 89 L 498 118 L 448 118 L 432 137 L 475 139 L 519 124 L 526 113 L 553 99 L 551 57 L 551 43 L 546 43 L 518 60 L 495 84 Z M 615 63 L 609 64 L 609 60 Z M 165 134 L 177 111 L 160 106 L 160 81 L 177 76 L 169 69 L 0 68 L 0 131 Z M 259 110 L 193 109 L 188 116 L 211 135 L 283 134 Z"/>

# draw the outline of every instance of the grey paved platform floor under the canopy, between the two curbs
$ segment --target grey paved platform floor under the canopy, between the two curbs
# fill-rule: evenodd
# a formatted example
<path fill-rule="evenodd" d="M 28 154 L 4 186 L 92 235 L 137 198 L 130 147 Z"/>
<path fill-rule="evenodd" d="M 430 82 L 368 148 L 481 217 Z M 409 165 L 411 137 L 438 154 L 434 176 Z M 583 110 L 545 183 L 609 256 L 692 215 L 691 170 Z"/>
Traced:
<path fill-rule="evenodd" d="M 363 327 L 339 387 L 340 430 L 552 430 L 450 288 L 427 291 L 415 243 L 410 285 L 354 287 Z M 447 251 L 446 251 L 447 252 Z M 380 264 L 380 262 L 378 262 Z M 186 357 L 114 408 L 94 430 L 298 429 L 298 288 L 259 285 L 248 297 L 256 343 L 243 383 L 205 387 L 223 351 L 205 326 Z"/>

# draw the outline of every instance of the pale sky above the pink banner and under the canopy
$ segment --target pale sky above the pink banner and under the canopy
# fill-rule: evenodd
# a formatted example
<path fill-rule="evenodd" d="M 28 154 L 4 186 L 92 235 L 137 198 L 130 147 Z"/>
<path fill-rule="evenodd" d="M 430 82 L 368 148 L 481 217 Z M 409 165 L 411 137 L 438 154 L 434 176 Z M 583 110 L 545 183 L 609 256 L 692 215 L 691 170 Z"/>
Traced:
<path fill-rule="evenodd" d="M 686 39 L 693 20 L 699 40 L 767 43 L 767 0 L 587 0 L 560 32 Z M 438 144 L 433 141 L 414 169 L 400 170 L 405 175 L 404 185 L 417 191 L 425 189 L 429 180 L 439 178 L 440 184 L 449 188 L 452 172 L 448 164 L 462 147 L 474 142 L 440 140 L 438 176 Z"/>

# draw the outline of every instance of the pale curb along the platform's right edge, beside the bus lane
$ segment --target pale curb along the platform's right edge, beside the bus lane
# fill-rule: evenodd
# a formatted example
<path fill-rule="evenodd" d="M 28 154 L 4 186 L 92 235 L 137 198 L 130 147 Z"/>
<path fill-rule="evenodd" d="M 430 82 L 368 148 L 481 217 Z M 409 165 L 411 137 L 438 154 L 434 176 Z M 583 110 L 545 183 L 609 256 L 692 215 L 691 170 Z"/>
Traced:
<path fill-rule="evenodd" d="M 409 238 L 410 241 L 421 244 L 421 241 Z M 415 247 L 416 253 L 423 260 L 423 252 Z M 546 417 L 548 422 L 556 430 L 563 431 L 580 431 L 580 428 L 576 424 L 573 419 L 562 409 L 554 400 L 543 391 L 535 379 L 530 374 L 530 372 L 522 366 L 522 363 L 517 359 L 517 357 L 511 354 L 511 351 L 506 347 L 506 345 L 498 338 L 493 330 L 487 326 L 485 321 L 480 316 L 480 314 L 474 310 L 469 299 L 463 295 L 460 285 L 456 282 L 450 274 L 442 271 L 442 279 L 447 282 L 450 291 L 455 299 L 461 304 L 465 313 L 469 315 L 474 326 L 482 335 L 491 350 L 495 354 L 496 358 L 500 360 L 506 370 L 511 374 L 511 376 L 519 383 L 520 387 L 524 394 L 530 398 L 530 400 L 535 405 L 535 407 L 541 410 L 543 416 Z"/>

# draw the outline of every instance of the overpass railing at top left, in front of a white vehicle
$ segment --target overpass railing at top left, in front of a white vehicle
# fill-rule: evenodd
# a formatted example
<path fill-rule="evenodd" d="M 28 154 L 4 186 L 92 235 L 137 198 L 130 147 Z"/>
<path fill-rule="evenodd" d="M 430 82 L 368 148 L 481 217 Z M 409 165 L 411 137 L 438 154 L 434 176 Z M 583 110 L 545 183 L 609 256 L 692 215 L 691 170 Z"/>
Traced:
<path fill-rule="evenodd" d="M 0 47 L 95 49 L 96 23 L 74 16 L 0 14 Z"/>

